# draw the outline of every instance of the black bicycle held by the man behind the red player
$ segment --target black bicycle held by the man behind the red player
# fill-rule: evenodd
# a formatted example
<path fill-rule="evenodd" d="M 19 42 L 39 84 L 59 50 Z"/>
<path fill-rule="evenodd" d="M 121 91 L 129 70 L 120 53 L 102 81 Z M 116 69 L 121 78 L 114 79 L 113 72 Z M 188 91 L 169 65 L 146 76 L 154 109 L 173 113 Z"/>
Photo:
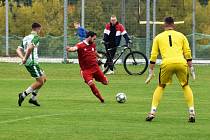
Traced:
<path fill-rule="evenodd" d="M 106 45 L 105 43 L 103 44 Z M 110 58 L 111 50 L 115 48 L 121 48 L 121 47 L 123 47 L 121 53 L 115 59 L 111 59 Z M 117 46 L 115 48 L 107 49 L 107 52 L 98 51 L 99 55 L 101 56 L 98 60 L 98 63 L 99 63 L 99 66 L 102 68 L 102 71 L 104 74 L 108 72 L 110 67 L 114 67 L 118 59 L 124 53 L 126 53 L 127 50 L 129 51 L 129 53 L 125 56 L 123 60 L 123 66 L 124 66 L 125 71 L 129 75 L 142 75 L 146 71 L 148 67 L 147 57 L 145 56 L 145 54 L 143 54 L 140 51 L 133 51 L 132 44 Z M 111 62 L 108 62 L 107 59 L 111 60 Z"/>

